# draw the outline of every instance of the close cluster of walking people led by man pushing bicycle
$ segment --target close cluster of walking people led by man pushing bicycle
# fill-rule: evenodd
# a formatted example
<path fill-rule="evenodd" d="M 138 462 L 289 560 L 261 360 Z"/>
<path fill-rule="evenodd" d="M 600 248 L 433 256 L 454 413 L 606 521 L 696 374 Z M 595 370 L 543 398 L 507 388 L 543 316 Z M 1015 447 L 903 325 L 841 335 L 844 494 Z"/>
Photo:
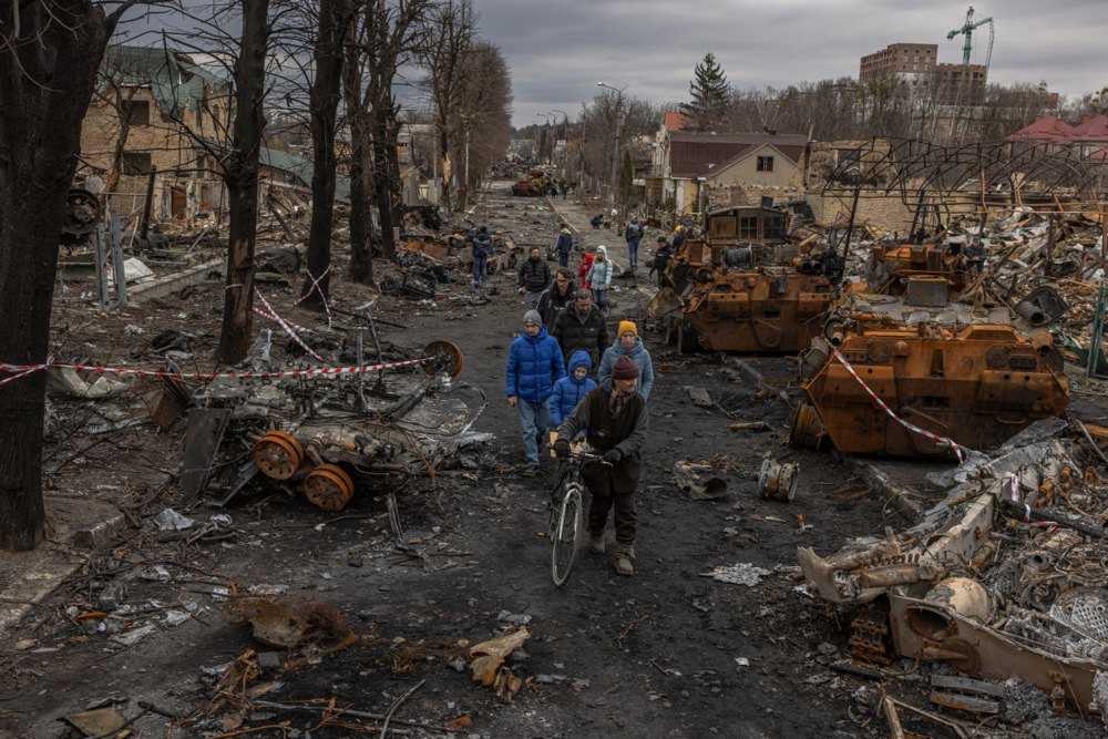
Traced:
<path fill-rule="evenodd" d="M 519 414 L 527 474 L 540 469 L 548 442 L 565 458 L 570 442 L 583 437 L 603 455 L 604 464 L 582 469 L 592 493 L 589 547 L 605 551 L 604 528 L 614 511 L 613 564 L 617 573 L 633 575 L 635 492 L 654 365 L 634 321 L 618 321 L 615 340 L 609 338 L 605 316 L 612 264 L 605 247 L 583 255 L 577 281 L 568 266 L 573 242 L 567 228 L 560 232 L 555 248 L 560 266 L 553 275 L 537 248 L 520 267 L 526 312 L 523 331 L 509 348 L 504 394 Z"/>

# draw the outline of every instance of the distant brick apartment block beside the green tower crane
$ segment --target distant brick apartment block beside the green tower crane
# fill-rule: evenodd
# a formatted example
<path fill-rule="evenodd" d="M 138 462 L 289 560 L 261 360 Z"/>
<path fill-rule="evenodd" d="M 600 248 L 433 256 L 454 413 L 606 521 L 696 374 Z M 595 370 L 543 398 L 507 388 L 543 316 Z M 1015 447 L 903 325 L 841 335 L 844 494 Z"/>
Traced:
<path fill-rule="evenodd" d="M 920 95 L 934 95 L 940 105 L 974 105 L 985 95 L 983 64 L 940 64 L 938 44 L 893 43 L 862 57 L 858 79 L 863 84 L 895 76 Z"/>

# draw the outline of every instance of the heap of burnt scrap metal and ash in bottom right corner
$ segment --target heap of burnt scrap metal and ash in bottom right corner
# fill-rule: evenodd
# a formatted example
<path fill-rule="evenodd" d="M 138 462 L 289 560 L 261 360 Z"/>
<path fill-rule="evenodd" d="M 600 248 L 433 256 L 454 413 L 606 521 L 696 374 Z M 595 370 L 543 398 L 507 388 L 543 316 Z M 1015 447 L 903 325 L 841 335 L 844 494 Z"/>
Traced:
<path fill-rule="evenodd" d="M 828 556 L 798 550 L 810 592 L 851 623 L 852 663 L 839 667 L 885 685 L 870 707 L 893 736 L 905 710 L 957 736 L 1032 719 L 1061 731 L 1050 736 L 1101 736 L 1073 717 L 1108 722 L 1106 442 L 1108 429 L 1038 421 L 929 475 L 942 501 L 910 528 Z M 933 707 L 890 700 L 929 671 Z"/>

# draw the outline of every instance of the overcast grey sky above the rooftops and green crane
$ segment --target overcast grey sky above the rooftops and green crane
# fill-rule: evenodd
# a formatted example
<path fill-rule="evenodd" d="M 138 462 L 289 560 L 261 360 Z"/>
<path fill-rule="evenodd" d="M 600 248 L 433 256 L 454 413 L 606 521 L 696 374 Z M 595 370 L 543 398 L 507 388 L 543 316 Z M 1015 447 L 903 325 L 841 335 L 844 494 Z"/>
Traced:
<path fill-rule="evenodd" d="M 474 0 L 481 32 L 512 66 L 516 126 L 552 107 L 573 117 L 597 80 L 655 103 L 684 101 L 711 51 L 739 88 L 858 76 L 860 57 L 890 43 L 937 43 L 961 62 L 968 3 L 950 0 Z M 1108 84 L 1108 0 L 992 0 L 989 81 L 1046 80 L 1080 95 Z M 974 34 L 984 61 L 988 30 Z M 979 44 L 979 45 L 978 45 Z"/>

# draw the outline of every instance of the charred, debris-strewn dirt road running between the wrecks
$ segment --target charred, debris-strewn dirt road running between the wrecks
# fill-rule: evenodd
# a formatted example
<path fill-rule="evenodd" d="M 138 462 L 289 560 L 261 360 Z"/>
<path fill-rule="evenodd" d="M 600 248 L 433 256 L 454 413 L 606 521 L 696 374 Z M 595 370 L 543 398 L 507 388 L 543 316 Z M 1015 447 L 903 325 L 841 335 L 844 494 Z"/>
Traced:
<path fill-rule="evenodd" d="M 519 240 L 553 239 L 554 218 L 536 209 L 538 204 L 489 193 L 479 216 L 493 227 L 525 234 Z M 612 245 L 612 234 L 588 228 L 583 208 L 562 202 L 557 207 L 585 239 Z M 648 235 L 644 243 L 650 242 Z M 620 252 L 622 246 L 615 250 L 617 259 Z M 652 291 L 642 273 L 637 283 L 618 280 L 613 321 L 625 315 L 642 319 Z M 733 370 L 719 357 L 673 353 L 640 321 L 658 378 L 638 503 L 639 574 L 617 578 L 603 557 L 583 555 L 566 587 L 555 588 L 544 538 L 548 480 L 517 475 L 517 420 L 503 402 L 503 363 L 522 306 L 512 289 L 514 275 L 495 276 L 492 284 L 496 295 L 486 305 L 456 300 L 419 310 L 403 302 L 391 307 L 404 316 L 408 329 L 389 331 L 388 340 L 418 347 L 447 337 L 462 347 L 463 379 L 492 401 L 476 430 L 496 437 L 495 466 L 444 475 L 433 487 L 401 501 L 407 548 L 393 546 L 379 500 L 357 501 L 347 513 L 365 517 L 322 531 L 314 526 L 332 516 L 301 500 L 278 500 L 256 511 L 233 511 L 246 532 L 235 542 L 173 555 L 197 573 L 218 573 L 240 584 L 279 584 L 291 594 L 334 603 L 357 630 L 383 637 L 375 646 L 349 648 L 276 676 L 280 687 L 266 699 L 335 698 L 341 706 L 383 712 L 427 680 L 398 718 L 441 725 L 466 714 L 472 718 L 466 731 L 488 737 L 866 733 L 845 712 L 854 684 L 829 673 L 823 665 L 830 649 L 819 649 L 827 642 L 842 649 L 845 635 L 832 633 L 823 608 L 797 591 L 794 565 L 798 545 L 825 552 L 848 536 L 880 531 L 880 501 L 835 503 L 829 493 L 845 482 L 848 468 L 827 455 L 787 451 L 784 403 L 732 379 Z M 751 363 L 780 387 L 793 373 L 788 359 Z M 732 414 L 765 420 L 772 430 L 728 431 L 722 411 L 688 401 L 687 386 L 708 389 Z M 757 497 L 757 471 L 767 451 L 790 454 L 801 464 L 800 492 L 791 505 Z M 728 481 L 727 496 L 689 500 L 671 481 L 679 460 L 715 460 Z M 798 514 L 812 528 L 801 533 Z M 701 576 L 736 563 L 751 563 L 769 574 L 753 587 Z M 66 592 L 60 592 L 37 610 L 24 632 L 34 635 L 39 648 L 58 650 L 8 653 L 8 682 L 0 688 L 0 699 L 8 700 L 0 702 L 0 726 L 11 736 L 59 736 L 57 717 L 113 695 L 131 699 L 127 715 L 136 711 L 138 699 L 176 710 L 203 705 L 211 689 L 201 682 L 202 668 L 233 659 L 252 642 L 244 628 L 225 624 L 219 602 L 197 593 L 209 586 L 185 579 L 136 581 L 129 599 L 193 601 L 204 608 L 203 622 L 160 628 L 131 648 L 113 646 L 105 635 L 86 634 L 59 617 L 66 607 Z M 196 581 L 207 579 L 196 575 Z M 511 704 L 471 684 L 437 650 L 459 639 L 495 635 L 504 612 L 530 617 L 533 633 L 526 656 L 514 667 L 534 679 Z M 423 658 L 398 666 L 398 638 L 419 645 Z M 10 699 L 13 692 L 18 700 Z M 245 719 L 248 726 L 289 719 L 300 730 L 317 722 L 265 710 Z M 140 736 L 164 735 L 164 719 L 156 716 L 134 726 Z M 274 729 L 250 736 L 283 733 Z M 353 735 L 324 728 L 311 736 Z"/>

